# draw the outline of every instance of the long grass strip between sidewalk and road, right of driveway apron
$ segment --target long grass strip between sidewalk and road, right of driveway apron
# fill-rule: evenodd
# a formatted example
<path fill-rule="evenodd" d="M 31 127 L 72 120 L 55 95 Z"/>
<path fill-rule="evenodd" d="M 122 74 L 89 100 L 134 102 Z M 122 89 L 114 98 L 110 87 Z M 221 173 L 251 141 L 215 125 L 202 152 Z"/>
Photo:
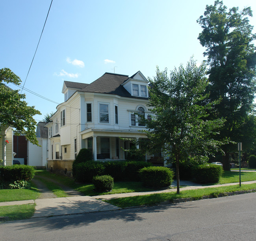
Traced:
<path fill-rule="evenodd" d="M 170 193 L 160 193 L 160 194 L 149 194 L 135 197 L 121 197 L 117 199 L 104 200 L 107 203 L 113 204 L 120 208 L 126 208 L 131 206 L 141 206 L 141 205 L 155 205 L 164 201 L 173 201 L 173 199 L 178 198 L 193 198 L 193 199 L 201 199 L 206 195 L 213 195 L 217 197 L 217 195 L 222 194 L 224 192 L 235 192 L 235 191 L 247 191 L 251 189 L 255 189 L 256 184 L 244 184 L 241 187 L 239 185 L 235 186 L 224 186 L 218 188 L 202 188 L 196 190 L 186 190 L 180 192 L 180 194 L 176 194 L 175 192 Z"/>

